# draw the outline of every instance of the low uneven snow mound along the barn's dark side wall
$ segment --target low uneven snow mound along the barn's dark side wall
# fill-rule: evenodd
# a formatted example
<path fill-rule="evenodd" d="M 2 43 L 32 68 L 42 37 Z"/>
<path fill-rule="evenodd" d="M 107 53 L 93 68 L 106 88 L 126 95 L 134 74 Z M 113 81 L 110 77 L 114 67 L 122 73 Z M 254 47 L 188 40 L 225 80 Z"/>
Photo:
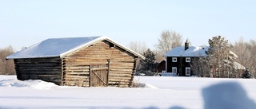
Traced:
<path fill-rule="evenodd" d="M 50 89 L 56 87 L 56 84 L 45 82 L 42 80 L 1 80 L 0 87 L 16 87 L 16 88 L 35 88 L 35 89 Z"/>

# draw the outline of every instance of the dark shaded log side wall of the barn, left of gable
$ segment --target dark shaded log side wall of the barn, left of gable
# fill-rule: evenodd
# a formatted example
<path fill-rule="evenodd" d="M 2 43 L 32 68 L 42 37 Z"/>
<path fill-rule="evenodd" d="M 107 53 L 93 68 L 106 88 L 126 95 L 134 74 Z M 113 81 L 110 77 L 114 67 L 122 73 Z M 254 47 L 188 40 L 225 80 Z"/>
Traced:
<path fill-rule="evenodd" d="M 59 57 L 15 59 L 18 80 L 44 80 L 61 85 L 62 63 Z"/>

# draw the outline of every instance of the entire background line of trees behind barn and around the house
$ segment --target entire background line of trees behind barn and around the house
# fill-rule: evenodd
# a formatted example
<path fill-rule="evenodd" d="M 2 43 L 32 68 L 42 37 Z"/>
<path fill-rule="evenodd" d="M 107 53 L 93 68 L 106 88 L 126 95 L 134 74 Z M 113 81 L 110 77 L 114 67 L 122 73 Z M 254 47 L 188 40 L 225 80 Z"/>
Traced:
<path fill-rule="evenodd" d="M 194 75 L 227 78 L 256 76 L 256 41 L 244 41 L 241 37 L 239 41 L 231 45 L 224 37 L 216 36 L 209 39 L 208 42 L 210 49 L 206 52 L 207 56 L 191 61 L 191 70 L 195 72 Z M 142 41 L 131 41 L 127 45 L 128 48 L 146 57 L 146 60 L 140 60 L 137 66 L 137 72 L 146 76 L 155 76 L 158 72 L 158 63 L 165 60 L 164 54 L 177 46 L 182 46 L 182 34 L 171 30 L 162 31 L 154 49 L 150 49 Z M 231 56 L 230 51 L 237 57 Z M 14 49 L 11 46 L 0 49 L 1 75 L 15 74 L 13 60 L 6 60 L 6 56 L 12 53 L 14 53 Z M 241 72 L 235 69 L 235 62 L 245 66 L 246 71 Z"/>

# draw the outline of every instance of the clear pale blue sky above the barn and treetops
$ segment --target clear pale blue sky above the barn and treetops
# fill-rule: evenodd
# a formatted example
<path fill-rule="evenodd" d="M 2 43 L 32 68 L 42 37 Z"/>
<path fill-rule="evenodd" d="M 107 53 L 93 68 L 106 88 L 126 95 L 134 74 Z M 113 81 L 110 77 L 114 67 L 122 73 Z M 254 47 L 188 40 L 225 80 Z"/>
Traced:
<path fill-rule="evenodd" d="M 256 40 L 254 0 L 0 0 L 0 48 L 15 50 L 54 37 L 107 36 L 121 45 L 150 48 L 162 30 L 192 45 L 216 35 Z"/>

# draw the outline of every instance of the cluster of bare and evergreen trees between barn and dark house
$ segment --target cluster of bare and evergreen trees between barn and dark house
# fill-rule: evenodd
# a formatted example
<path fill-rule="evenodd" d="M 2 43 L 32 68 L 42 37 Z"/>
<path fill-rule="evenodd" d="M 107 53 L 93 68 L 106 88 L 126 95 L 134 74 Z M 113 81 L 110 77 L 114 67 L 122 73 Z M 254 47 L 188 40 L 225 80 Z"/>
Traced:
<path fill-rule="evenodd" d="M 128 48 L 134 52 L 140 53 L 146 57 L 146 60 L 140 60 L 137 66 L 137 73 L 145 74 L 146 76 L 156 76 L 158 63 L 165 60 L 164 54 L 170 49 L 182 45 L 182 35 L 175 31 L 163 30 L 158 43 L 154 45 L 152 50 L 146 46 L 144 42 L 132 41 Z"/>

